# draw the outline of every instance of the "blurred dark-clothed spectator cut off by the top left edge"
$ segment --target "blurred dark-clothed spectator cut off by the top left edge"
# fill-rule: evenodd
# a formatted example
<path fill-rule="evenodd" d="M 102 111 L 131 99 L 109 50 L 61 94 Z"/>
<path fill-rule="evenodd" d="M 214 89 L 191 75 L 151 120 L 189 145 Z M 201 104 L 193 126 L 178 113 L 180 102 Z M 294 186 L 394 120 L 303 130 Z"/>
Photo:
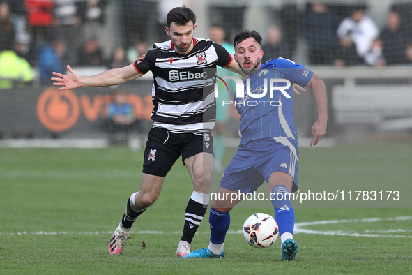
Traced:
<path fill-rule="evenodd" d="M 10 18 L 10 6 L 7 1 L 0 1 L 0 46 L 3 50 L 12 50 L 15 29 Z"/>

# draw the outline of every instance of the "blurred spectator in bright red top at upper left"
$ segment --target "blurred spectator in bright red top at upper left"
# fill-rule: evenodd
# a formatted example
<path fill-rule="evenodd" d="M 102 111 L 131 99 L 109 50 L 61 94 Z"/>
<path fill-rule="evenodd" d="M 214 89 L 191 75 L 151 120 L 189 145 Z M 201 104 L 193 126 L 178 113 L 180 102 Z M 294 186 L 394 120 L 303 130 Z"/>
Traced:
<path fill-rule="evenodd" d="M 53 24 L 53 0 L 24 0 L 31 36 L 38 45 L 49 39 Z"/>

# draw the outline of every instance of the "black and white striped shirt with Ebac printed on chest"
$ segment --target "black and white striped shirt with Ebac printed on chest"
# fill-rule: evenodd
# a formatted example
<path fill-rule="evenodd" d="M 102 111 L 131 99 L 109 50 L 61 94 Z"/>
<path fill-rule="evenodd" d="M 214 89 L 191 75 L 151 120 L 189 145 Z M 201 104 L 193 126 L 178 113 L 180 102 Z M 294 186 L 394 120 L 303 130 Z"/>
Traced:
<path fill-rule="evenodd" d="M 209 39 L 193 38 L 193 44 L 188 54 L 178 54 L 171 40 L 155 43 L 135 61 L 139 73 L 153 73 L 153 127 L 197 133 L 215 125 L 216 66 L 228 66 L 232 57 Z"/>

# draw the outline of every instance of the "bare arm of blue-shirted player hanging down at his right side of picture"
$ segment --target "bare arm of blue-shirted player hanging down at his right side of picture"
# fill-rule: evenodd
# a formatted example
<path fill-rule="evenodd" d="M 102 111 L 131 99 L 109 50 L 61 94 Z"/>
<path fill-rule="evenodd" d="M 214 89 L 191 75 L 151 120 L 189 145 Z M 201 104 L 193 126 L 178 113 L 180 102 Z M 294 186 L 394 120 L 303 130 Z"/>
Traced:
<path fill-rule="evenodd" d="M 312 126 L 313 138 L 309 145 L 309 147 L 312 147 L 312 145 L 318 144 L 319 140 L 326 134 L 328 126 L 328 100 L 325 83 L 317 75 L 312 75 L 310 82 L 306 86 L 313 89 L 314 100 L 318 109 L 318 119 Z"/>

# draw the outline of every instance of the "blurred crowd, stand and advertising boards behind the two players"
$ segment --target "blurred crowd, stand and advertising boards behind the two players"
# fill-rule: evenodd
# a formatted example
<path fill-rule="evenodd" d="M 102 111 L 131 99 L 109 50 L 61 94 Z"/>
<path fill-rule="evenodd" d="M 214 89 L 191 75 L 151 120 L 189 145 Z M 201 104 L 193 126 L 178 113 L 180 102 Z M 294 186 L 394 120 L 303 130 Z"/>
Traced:
<path fill-rule="evenodd" d="M 81 76 L 132 64 L 169 40 L 166 15 L 183 4 L 197 15 L 195 37 L 231 44 L 255 29 L 262 61 L 284 57 L 319 75 L 328 89 L 324 145 L 412 140 L 412 1 L 0 0 L 0 146 L 139 147 L 151 127 L 150 73 L 75 91 L 58 91 L 50 77 L 66 64 Z M 316 120 L 308 90 L 293 98 L 304 142 Z M 227 144 L 236 146 L 236 110 L 227 116 Z"/>

